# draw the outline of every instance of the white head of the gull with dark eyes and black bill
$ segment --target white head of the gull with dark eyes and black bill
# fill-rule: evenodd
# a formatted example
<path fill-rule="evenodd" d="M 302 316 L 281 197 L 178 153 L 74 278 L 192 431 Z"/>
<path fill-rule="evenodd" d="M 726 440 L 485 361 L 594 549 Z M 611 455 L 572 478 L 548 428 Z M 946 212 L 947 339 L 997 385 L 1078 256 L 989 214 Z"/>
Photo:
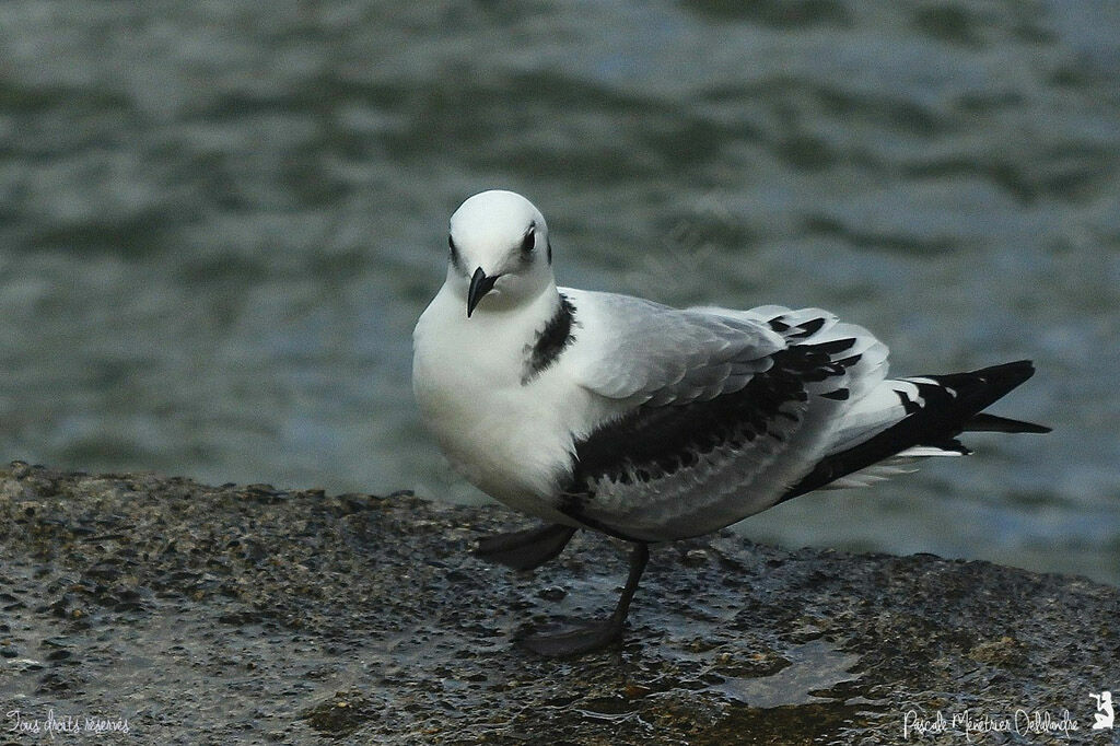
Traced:
<path fill-rule="evenodd" d="M 469 197 L 451 215 L 448 243 L 447 282 L 461 292 L 467 316 L 476 306 L 522 306 L 553 287 L 548 225 L 520 194 L 494 189 Z"/>

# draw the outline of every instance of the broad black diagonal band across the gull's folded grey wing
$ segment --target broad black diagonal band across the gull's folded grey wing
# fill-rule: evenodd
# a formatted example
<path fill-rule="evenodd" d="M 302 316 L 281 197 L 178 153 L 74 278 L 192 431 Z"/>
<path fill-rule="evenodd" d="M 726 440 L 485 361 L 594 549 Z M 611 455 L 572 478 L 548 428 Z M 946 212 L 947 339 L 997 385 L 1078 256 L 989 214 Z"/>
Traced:
<path fill-rule="evenodd" d="M 708 401 L 638 407 L 599 428 L 576 444 L 561 510 L 582 521 L 581 505 L 604 478 L 620 484 L 652 482 L 696 466 L 716 448 L 746 448 L 758 438 L 784 441 L 781 431 L 803 416 L 810 398 L 806 385 L 843 376 L 859 356 L 840 364 L 832 355 L 855 343 L 846 338 L 794 345 L 774 353 L 771 367 L 738 391 Z"/>

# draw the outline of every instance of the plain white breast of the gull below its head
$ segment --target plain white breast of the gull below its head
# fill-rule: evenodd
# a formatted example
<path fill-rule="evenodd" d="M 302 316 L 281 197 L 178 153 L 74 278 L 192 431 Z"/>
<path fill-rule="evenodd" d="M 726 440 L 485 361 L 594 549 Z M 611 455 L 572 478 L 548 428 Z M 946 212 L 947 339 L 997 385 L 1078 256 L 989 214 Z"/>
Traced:
<path fill-rule="evenodd" d="M 412 386 L 424 423 L 472 484 L 515 510 L 571 523 L 552 503 L 570 469 L 571 423 L 589 394 L 552 371 L 521 380 L 556 302 L 545 293 L 539 313 L 468 319 L 445 287 L 413 333 Z"/>

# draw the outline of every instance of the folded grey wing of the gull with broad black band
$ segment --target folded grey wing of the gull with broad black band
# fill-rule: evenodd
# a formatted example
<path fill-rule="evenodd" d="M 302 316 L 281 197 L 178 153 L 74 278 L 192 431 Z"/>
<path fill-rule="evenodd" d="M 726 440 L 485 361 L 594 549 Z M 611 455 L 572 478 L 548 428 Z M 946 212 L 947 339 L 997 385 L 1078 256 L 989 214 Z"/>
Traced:
<path fill-rule="evenodd" d="M 699 535 L 775 504 L 886 370 L 886 347 L 819 309 L 678 311 L 617 298 L 573 298 L 599 346 L 595 358 L 584 349 L 581 382 L 629 405 L 577 438 L 561 510 L 624 538 Z"/>

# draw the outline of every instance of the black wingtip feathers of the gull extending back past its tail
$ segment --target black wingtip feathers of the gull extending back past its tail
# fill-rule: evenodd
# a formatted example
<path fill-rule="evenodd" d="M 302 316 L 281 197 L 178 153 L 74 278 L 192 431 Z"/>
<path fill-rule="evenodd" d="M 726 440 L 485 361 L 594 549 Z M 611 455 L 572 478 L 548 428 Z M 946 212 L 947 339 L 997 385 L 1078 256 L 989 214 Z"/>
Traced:
<path fill-rule="evenodd" d="M 867 468 L 914 446 L 935 446 L 967 454 L 968 449 L 955 438 L 962 431 L 970 429 L 970 425 L 973 422 L 979 421 L 981 426 L 995 426 L 995 421 L 998 421 L 1002 427 L 1011 427 L 1005 422 L 1023 426 L 1024 429 L 1015 430 L 1017 432 L 1048 431 L 1049 428 L 1029 422 L 1005 421 L 1004 418 L 980 414 L 980 410 L 1002 398 L 1034 375 L 1034 372 L 1035 369 L 1030 361 L 1018 361 L 971 373 L 930 375 L 909 380 L 911 383 L 917 385 L 918 395 L 923 403 L 899 392 L 906 417 L 897 425 L 858 446 L 822 459 L 780 502 L 823 487 L 830 482 Z"/>

